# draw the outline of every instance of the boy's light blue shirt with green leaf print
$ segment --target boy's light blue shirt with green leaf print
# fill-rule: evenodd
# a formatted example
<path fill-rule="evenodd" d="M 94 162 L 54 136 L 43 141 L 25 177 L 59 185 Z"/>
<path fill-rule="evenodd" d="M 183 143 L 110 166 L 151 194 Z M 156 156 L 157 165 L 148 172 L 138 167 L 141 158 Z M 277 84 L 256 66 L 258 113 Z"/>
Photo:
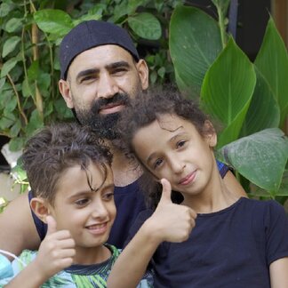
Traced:
<path fill-rule="evenodd" d="M 55 276 L 52 276 L 47 282 L 45 282 L 41 287 L 63 287 L 63 288 L 76 288 L 76 287 L 97 287 L 104 288 L 107 287 L 108 275 L 111 271 L 113 264 L 118 258 L 121 251 L 116 249 L 113 245 L 106 244 L 108 249 L 111 251 L 111 257 L 100 264 L 93 265 L 72 265 L 63 271 L 60 271 Z M 20 260 L 28 264 L 36 258 L 37 252 L 25 250 L 20 255 Z M 14 276 L 16 276 L 20 270 L 23 269 L 23 265 L 19 261 L 14 260 L 12 262 L 12 268 Z M 33 275 L 31 275 L 33 277 Z M 4 287 L 4 284 L 9 283 L 12 279 L 3 278 L 0 274 L 0 287 Z M 148 288 L 153 287 L 152 284 L 153 277 L 150 273 L 147 273 L 138 288 Z"/>

